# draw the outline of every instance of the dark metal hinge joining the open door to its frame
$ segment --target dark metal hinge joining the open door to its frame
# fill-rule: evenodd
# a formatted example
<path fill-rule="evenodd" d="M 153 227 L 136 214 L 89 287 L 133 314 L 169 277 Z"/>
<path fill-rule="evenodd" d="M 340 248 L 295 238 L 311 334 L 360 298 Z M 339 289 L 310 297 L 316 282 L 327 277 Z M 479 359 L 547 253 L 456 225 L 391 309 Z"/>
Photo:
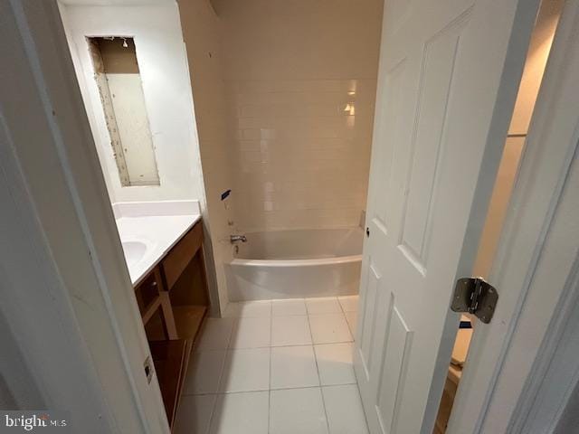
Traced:
<path fill-rule="evenodd" d="M 459 278 L 454 287 L 451 309 L 454 312 L 468 312 L 489 324 L 497 301 L 497 289 L 483 278 Z"/>

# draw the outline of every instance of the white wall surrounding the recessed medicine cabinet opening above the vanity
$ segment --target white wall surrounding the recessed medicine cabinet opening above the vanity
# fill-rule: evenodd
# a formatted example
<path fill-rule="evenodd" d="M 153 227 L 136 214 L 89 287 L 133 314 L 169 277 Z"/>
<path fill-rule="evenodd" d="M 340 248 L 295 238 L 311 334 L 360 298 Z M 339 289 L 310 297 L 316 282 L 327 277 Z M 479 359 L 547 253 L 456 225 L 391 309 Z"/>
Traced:
<path fill-rule="evenodd" d="M 61 10 L 111 202 L 203 198 L 191 84 L 177 5 L 62 5 Z M 85 41 L 86 36 L 107 35 L 127 35 L 135 40 L 159 186 L 120 185 Z"/>

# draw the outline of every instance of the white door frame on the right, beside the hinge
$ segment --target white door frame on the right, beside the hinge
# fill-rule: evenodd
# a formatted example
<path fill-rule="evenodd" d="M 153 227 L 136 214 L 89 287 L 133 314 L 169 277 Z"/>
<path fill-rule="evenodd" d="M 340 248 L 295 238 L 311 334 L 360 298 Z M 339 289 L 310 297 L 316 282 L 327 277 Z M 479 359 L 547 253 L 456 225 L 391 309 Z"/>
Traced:
<path fill-rule="evenodd" d="M 553 372 L 557 352 L 569 339 L 579 337 L 579 326 L 570 321 L 571 302 L 579 297 L 579 259 L 573 259 L 573 252 L 571 263 L 546 257 L 547 241 L 555 238 L 557 231 L 555 222 L 564 218 L 563 192 L 579 139 L 579 127 L 571 143 L 568 137 L 553 133 L 562 119 L 579 121 L 576 110 L 556 109 L 568 108 L 573 102 L 571 107 L 577 106 L 579 92 L 572 89 L 573 77 L 578 75 L 579 4 L 566 2 L 489 274 L 500 295 L 498 308 L 489 325 L 475 328 L 449 434 L 543 433 L 543 429 L 528 429 L 538 429 L 533 414 L 537 405 L 546 402 L 550 405 L 543 409 L 542 417 L 551 420 L 548 432 L 554 432 L 579 383 L 579 360 L 559 366 L 550 377 L 553 387 L 545 387 L 544 382 L 546 373 Z M 554 113 L 558 117 L 554 118 Z M 539 176 L 541 182 L 536 182 Z M 561 272 L 563 276 L 556 274 Z M 539 273 L 551 273 L 550 291 L 536 285 Z M 523 427 L 525 431 L 521 431 Z"/>

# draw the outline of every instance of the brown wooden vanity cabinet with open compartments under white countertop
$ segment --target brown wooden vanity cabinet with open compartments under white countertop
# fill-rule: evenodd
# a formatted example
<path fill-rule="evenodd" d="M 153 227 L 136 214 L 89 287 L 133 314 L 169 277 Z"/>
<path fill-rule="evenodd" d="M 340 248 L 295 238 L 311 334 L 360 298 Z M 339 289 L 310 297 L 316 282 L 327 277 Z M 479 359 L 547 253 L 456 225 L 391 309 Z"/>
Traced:
<path fill-rule="evenodd" d="M 209 305 L 201 221 L 159 259 L 135 295 L 173 429 L 189 354 Z"/>

